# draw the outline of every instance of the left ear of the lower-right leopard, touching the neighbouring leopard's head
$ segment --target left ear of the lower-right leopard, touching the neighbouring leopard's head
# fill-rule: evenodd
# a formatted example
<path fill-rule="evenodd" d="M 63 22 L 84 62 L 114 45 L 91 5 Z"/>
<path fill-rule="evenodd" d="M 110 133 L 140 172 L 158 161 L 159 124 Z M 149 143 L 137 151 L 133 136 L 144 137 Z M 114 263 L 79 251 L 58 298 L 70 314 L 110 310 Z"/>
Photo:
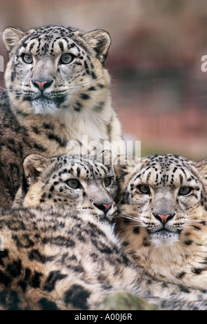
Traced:
<path fill-rule="evenodd" d="M 140 161 L 134 156 L 127 154 L 121 154 L 117 156 L 114 162 L 115 173 L 117 177 L 122 181 L 124 177 L 135 170 L 135 166 L 138 165 Z"/>

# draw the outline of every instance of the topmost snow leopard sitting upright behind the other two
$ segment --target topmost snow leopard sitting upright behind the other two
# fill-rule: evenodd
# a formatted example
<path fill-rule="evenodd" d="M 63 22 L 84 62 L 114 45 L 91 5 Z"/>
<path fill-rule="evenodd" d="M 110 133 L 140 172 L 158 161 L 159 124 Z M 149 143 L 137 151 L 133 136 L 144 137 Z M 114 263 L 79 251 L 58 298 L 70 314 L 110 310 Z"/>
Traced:
<path fill-rule="evenodd" d="M 108 32 L 8 27 L 3 41 L 9 61 L 1 95 L 0 204 L 10 207 L 27 154 L 54 156 L 80 148 L 86 154 L 103 141 L 119 142 L 119 148 L 124 142 L 103 66 Z"/>

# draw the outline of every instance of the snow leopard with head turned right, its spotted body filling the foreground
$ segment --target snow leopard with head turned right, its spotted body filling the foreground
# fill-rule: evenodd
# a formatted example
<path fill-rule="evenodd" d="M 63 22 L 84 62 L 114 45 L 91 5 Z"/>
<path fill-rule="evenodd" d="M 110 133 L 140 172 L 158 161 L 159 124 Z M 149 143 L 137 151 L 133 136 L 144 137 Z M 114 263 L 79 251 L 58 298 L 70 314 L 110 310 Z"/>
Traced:
<path fill-rule="evenodd" d="M 138 310 L 138 296 L 155 304 L 144 303 L 148 309 L 207 309 L 206 292 L 152 279 L 121 248 L 110 224 L 117 186 L 109 165 L 83 156 L 31 154 L 24 169 L 24 203 L 28 196 L 30 205 L 32 192 L 41 199 L 37 207 L 1 210 L 1 310 L 106 310 L 111 305 L 103 299 L 117 294 L 121 300 L 132 295 Z M 77 208 L 71 207 L 74 200 Z"/>

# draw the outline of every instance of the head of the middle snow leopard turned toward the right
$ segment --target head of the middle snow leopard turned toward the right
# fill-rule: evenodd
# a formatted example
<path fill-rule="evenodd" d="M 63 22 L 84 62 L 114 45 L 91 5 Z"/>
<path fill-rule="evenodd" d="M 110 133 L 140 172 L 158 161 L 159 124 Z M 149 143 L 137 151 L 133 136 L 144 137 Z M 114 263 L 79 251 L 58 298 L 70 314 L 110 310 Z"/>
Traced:
<path fill-rule="evenodd" d="M 108 150 L 97 159 L 75 154 L 52 158 L 29 154 L 23 161 L 23 181 L 12 207 L 65 205 L 112 221 L 117 210 L 117 182 L 109 162 Z"/>

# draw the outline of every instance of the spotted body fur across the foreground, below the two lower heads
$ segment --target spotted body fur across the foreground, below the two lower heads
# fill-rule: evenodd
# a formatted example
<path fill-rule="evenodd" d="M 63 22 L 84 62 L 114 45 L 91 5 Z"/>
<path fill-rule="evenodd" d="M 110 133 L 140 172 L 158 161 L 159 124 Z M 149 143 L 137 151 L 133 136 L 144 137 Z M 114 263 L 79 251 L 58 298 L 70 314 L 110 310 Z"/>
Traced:
<path fill-rule="evenodd" d="M 207 310 L 206 292 L 156 281 L 135 268 L 110 223 L 88 210 L 1 211 L 0 235 L 0 310 L 95 310 L 117 292 L 166 310 Z"/>

